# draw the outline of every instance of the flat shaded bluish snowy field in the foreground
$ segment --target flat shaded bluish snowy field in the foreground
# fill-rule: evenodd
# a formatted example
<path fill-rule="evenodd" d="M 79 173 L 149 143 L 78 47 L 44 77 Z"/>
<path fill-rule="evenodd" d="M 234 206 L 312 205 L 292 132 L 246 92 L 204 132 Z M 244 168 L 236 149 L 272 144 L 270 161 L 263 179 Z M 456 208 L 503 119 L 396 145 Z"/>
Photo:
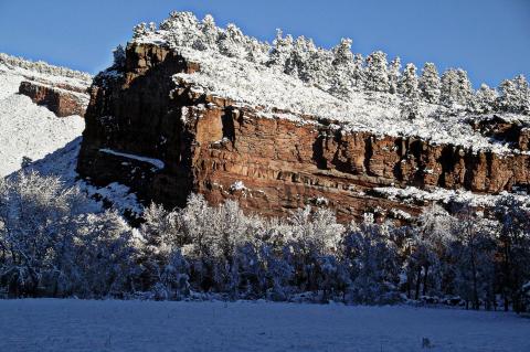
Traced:
<path fill-rule="evenodd" d="M 0 351 L 530 351 L 530 319 L 412 307 L 0 300 Z"/>

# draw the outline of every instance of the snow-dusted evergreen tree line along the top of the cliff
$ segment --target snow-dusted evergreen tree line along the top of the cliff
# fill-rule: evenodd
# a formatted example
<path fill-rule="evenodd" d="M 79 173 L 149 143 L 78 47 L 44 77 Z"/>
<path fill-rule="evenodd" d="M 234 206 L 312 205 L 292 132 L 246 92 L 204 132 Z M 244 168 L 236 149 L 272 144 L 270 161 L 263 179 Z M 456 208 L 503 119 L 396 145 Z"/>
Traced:
<path fill-rule="evenodd" d="M 403 68 L 400 57 L 389 63 L 381 51 L 367 57 L 352 53 L 350 39 L 325 50 L 305 36 L 284 36 L 280 30 L 269 45 L 243 34 L 235 24 L 221 29 L 211 15 L 199 21 L 191 12 L 171 12 L 158 29 L 152 22 L 134 29 L 136 40 L 152 34 L 162 35 L 177 50 L 213 51 L 273 67 L 344 100 L 359 90 L 396 94 L 407 118 L 418 116 L 422 103 L 473 114 L 530 114 L 530 89 L 523 75 L 502 81 L 498 88 L 483 84 L 475 90 L 462 68 L 449 68 L 441 76 L 433 63 L 426 63 L 418 76 L 414 64 Z"/>

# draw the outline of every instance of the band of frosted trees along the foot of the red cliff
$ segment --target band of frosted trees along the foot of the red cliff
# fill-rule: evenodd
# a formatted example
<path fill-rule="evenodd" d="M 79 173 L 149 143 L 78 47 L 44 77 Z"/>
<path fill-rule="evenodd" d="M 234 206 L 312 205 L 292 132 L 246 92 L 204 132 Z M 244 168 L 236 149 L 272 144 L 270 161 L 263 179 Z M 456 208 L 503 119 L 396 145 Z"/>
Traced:
<path fill-rule="evenodd" d="M 236 202 L 151 204 L 130 227 L 54 177 L 0 181 L 0 292 L 6 297 L 224 299 L 530 310 L 530 212 L 510 196 L 489 210 L 426 209 L 409 225 L 337 222 L 328 209 L 287 218 Z"/>

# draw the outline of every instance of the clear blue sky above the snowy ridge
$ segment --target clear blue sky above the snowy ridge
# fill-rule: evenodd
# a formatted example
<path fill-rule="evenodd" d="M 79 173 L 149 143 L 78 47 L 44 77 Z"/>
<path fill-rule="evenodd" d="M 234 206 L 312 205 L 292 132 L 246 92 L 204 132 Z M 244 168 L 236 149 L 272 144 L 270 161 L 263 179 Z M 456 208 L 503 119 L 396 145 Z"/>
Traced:
<path fill-rule="evenodd" d="M 136 23 L 171 10 L 212 13 L 267 41 L 276 28 L 325 47 L 349 36 L 364 55 L 463 67 L 476 87 L 530 75 L 530 0 L 0 0 L 0 52 L 95 73 Z"/>

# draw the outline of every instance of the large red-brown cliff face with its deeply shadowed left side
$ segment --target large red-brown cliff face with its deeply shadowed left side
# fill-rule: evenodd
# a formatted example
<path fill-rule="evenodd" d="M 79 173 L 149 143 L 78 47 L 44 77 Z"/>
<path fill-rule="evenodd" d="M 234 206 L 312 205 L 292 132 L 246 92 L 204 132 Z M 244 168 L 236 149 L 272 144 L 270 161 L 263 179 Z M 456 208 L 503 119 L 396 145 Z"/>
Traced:
<path fill-rule="evenodd" d="M 140 199 L 169 207 L 198 192 L 211 203 L 236 199 L 244 210 L 267 216 L 326 205 L 337 209 L 341 221 L 365 211 L 394 216 L 421 211 L 422 204 L 379 196 L 377 186 L 497 193 L 530 184 L 527 154 L 347 132 L 310 117 L 263 117 L 258 107 L 171 79 L 197 70 L 162 46 L 129 44 L 121 74 L 107 72 L 94 81 L 78 172 L 100 185 L 125 183 Z M 528 131 L 518 138 L 528 147 Z"/>

